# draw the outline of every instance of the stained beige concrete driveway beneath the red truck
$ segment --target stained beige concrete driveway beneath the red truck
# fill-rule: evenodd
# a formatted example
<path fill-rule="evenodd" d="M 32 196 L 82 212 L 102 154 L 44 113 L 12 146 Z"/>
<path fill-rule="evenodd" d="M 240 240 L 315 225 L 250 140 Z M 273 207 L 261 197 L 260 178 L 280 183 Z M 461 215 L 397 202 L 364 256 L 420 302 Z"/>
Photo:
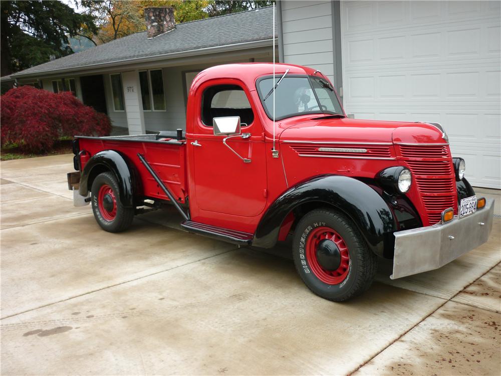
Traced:
<path fill-rule="evenodd" d="M 73 207 L 71 155 L 0 167 L 3 375 L 501 373 L 498 218 L 440 270 L 382 265 L 332 303 L 290 259 L 188 235 L 172 212 L 102 231 Z"/>

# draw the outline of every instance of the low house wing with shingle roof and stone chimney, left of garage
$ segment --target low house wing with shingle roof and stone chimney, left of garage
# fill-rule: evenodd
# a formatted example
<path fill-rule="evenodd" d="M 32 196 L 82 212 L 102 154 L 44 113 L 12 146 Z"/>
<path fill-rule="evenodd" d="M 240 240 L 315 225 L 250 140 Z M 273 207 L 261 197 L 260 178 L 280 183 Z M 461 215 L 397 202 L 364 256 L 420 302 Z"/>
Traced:
<path fill-rule="evenodd" d="M 148 31 L 6 79 L 53 92 L 72 91 L 84 104 L 107 113 L 115 127 L 144 134 L 184 128 L 187 92 L 203 69 L 273 61 L 273 8 L 178 25 L 171 8 L 151 8 L 146 14 Z"/>

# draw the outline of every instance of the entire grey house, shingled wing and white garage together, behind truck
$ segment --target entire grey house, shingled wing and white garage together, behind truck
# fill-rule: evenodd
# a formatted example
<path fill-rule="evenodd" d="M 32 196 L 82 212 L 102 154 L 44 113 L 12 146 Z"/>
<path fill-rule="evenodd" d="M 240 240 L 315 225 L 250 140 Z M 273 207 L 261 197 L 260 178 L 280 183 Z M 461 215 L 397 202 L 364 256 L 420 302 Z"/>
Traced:
<path fill-rule="evenodd" d="M 500 189 L 500 4 L 277 1 L 277 60 L 319 69 L 356 118 L 441 123 L 469 181 Z M 130 133 L 175 129 L 197 72 L 272 61 L 272 20 L 273 8 L 261 8 L 150 28 L 159 36 L 138 33 L 11 78 L 71 89 Z"/>

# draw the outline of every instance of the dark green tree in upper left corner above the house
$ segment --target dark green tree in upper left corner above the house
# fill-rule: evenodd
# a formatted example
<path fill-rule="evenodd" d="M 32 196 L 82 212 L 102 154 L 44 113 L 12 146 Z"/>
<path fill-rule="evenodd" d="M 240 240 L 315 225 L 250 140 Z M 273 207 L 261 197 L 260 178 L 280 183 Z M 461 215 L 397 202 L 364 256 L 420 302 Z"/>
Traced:
<path fill-rule="evenodd" d="M 92 14 L 76 13 L 59 1 L 0 2 L 1 75 L 71 54 L 69 37 L 96 33 Z"/>

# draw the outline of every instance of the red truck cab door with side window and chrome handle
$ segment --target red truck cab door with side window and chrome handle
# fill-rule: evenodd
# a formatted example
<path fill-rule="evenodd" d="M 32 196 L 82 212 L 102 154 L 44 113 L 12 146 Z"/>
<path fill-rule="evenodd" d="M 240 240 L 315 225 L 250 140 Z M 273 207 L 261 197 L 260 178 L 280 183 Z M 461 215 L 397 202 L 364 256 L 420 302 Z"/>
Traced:
<path fill-rule="evenodd" d="M 207 82 L 196 93 L 193 111 L 193 173 L 200 210 L 243 217 L 259 215 L 266 205 L 267 174 L 263 126 L 249 93 L 238 80 Z M 239 116 L 246 138 L 214 135 L 214 117 Z M 250 133 L 250 135 L 248 135 Z M 233 150 L 231 150 L 233 149 Z"/>

